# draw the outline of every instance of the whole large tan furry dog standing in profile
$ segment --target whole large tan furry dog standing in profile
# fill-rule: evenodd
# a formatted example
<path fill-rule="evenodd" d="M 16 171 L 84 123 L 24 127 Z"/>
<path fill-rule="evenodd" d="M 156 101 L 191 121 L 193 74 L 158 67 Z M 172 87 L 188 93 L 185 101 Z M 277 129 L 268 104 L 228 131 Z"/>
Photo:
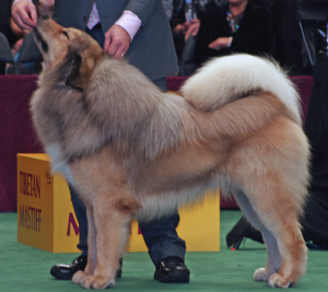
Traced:
<path fill-rule="evenodd" d="M 304 276 L 298 217 L 309 150 L 297 93 L 277 65 L 247 55 L 214 59 L 181 97 L 105 56 L 81 31 L 40 19 L 35 38 L 44 71 L 31 102 L 34 125 L 52 171 L 87 210 L 87 266 L 74 283 L 114 285 L 133 218 L 167 214 L 219 187 L 232 190 L 263 235 L 269 258 L 255 280 L 286 288 Z"/>

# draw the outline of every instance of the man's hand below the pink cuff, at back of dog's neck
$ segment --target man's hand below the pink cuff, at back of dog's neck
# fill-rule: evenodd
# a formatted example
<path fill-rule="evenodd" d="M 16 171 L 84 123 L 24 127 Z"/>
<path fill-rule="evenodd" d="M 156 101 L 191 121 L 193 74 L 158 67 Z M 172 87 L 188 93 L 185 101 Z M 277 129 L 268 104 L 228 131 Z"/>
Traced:
<path fill-rule="evenodd" d="M 121 26 L 114 24 L 105 34 L 104 50 L 109 56 L 121 59 L 131 43 L 130 35 Z"/>

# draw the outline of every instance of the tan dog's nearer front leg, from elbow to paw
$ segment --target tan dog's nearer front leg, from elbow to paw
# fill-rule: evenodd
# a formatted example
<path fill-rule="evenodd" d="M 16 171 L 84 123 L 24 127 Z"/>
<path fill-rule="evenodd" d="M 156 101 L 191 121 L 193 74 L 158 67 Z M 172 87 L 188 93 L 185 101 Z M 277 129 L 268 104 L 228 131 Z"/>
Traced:
<path fill-rule="evenodd" d="M 86 289 L 114 287 L 119 259 L 126 250 L 130 222 L 138 205 L 121 190 L 95 197 L 93 203 L 96 230 L 96 265 L 94 275 L 86 276 L 81 284 Z M 84 272 L 85 276 L 85 272 Z"/>

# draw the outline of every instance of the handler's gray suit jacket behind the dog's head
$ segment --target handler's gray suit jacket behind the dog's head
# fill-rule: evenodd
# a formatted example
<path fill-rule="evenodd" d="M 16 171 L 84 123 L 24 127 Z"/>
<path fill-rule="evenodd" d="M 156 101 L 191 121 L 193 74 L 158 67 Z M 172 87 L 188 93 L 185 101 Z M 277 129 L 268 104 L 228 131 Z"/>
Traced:
<path fill-rule="evenodd" d="M 85 31 L 94 0 L 56 0 L 52 19 L 63 27 Z M 104 33 L 130 10 L 142 22 L 126 55 L 151 80 L 177 72 L 177 60 L 162 0 L 95 0 Z"/>

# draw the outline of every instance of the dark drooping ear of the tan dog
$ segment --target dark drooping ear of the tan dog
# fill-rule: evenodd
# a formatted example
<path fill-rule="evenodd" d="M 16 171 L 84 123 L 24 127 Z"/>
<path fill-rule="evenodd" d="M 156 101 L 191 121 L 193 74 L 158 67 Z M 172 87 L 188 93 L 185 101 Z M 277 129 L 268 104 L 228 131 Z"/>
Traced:
<path fill-rule="evenodd" d="M 66 84 L 68 86 L 72 86 L 80 91 L 83 91 L 90 75 L 92 73 L 92 69 L 87 67 L 87 63 L 83 61 L 83 57 L 81 55 L 74 55 L 71 57 L 71 70 L 66 80 Z"/>

